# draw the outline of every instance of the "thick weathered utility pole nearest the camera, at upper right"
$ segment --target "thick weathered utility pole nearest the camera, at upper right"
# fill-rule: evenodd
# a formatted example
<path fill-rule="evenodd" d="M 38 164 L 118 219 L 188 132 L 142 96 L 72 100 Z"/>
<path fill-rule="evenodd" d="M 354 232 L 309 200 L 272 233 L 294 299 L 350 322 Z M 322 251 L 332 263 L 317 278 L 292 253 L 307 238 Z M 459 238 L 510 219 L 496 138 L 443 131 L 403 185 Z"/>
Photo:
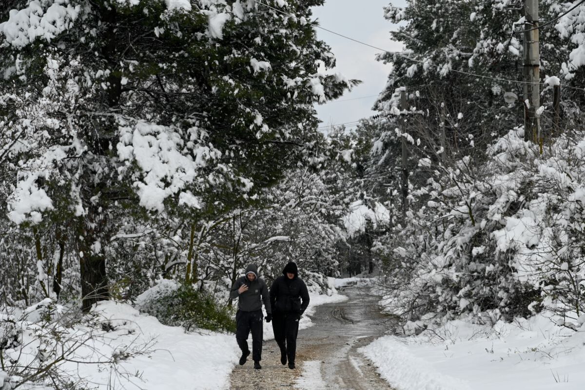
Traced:
<path fill-rule="evenodd" d="M 540 50 L 538 0 L 524 0 L 524 140 L 542 145 L 540 102 Z"/>

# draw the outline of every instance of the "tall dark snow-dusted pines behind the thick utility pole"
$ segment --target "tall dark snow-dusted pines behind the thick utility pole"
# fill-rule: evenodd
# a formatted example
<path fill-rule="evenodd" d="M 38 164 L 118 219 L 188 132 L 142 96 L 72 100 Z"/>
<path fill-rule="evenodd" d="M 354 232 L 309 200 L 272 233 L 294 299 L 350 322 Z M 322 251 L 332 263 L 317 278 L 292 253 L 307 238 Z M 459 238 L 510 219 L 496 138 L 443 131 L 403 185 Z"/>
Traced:
<path fill-rule="evenodd" d="M 540 2 L 541 25 L 577 3 Z M 405 8 L 388 5 L 386 19 L 401 22 L 391 35 L 404 42 L 405 49 L 378 56 L 378 60 L 392 63 L 393 70 L 376 102 L 377 110 L 389 113 L 395 106 L 395 89 L 407 87 L 412 96 L 409 105 L 427 113 L 421 122 L 431 129 L 428 136 L 436 145 L 444 124 L 443 148 L 449 155 L 459 154 L 469 135 L 484 150 L 507 129 L 522 123 L 524 99 L 518 97 L 524 94 L 524 87 L 515 82 L 524 80 L 521 31 L 526 25 L 522 10 L 522 2 L 510 0 L 417 0 L 407 1 Z M 560 128 L 572 128 L 582 121 L 582 10 L 581 5 L 539 30 L 542 81 L 549 77 L 562 80 Z M 545 83 L 541 91 L 542 126 L 558 129 L 552 120 L 552 105 L 553 88 Z M 455 126 L 453 115 L 459 113 L 463 121 Z M 463 150 L 459 157 L 467 153 Z"/>

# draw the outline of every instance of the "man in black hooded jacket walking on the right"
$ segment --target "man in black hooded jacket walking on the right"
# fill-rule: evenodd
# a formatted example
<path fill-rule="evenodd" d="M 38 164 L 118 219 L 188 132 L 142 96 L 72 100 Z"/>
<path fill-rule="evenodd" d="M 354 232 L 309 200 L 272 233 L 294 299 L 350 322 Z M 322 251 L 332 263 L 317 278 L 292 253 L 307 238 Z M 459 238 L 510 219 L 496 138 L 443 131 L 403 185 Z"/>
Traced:
<path fill-rule="evenodd" d="M 301 303 L 302 299 L 302 303 Z M 274 308 L 272 330 L 274 340 L 280 347 L 280 362 L 295 368 L 297 353 L 298 321 L 309 306 L 307 285 L 298 277 L 297 264 L 288 263 L 270 287 L 270 306 Z"/>

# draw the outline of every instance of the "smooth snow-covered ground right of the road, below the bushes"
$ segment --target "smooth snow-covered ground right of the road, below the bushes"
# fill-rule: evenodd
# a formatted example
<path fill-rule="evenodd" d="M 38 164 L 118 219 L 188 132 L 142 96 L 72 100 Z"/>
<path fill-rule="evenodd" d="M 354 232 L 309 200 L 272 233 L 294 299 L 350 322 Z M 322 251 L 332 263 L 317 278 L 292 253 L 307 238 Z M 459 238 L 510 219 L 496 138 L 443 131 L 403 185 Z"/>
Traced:
<path fill-rule="evenodd" d="M 450 321 L 361 351 L 397 390 L 576 390 L 585 388 L 584 345 L 585 332 L 539 315 L 493 328 Z"/>

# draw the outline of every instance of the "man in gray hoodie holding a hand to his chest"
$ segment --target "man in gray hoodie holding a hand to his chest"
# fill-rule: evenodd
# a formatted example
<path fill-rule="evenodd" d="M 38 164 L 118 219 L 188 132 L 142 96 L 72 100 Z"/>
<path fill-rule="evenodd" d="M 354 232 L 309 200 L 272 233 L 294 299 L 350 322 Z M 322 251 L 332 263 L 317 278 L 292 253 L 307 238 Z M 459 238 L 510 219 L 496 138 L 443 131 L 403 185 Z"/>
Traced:
<path fill-rule="evenodd" d="M 240 365 L 245 364 L 250 355 L 248 336 L 252 331 L 252 360 L 254 368 L 259 370 L 262 359 L 262 302 L 266 309 L 266 322 L 272 320 L 270 310 L 270 295 L 264 280 L 258 277 L 258 268 L 255 264 L 246 267 L 246 275 L 233 283 L 229 293 L 231 299 L 238 298 L 238 312 L 236 313 L 236 341 L 242 350 Z"/>

